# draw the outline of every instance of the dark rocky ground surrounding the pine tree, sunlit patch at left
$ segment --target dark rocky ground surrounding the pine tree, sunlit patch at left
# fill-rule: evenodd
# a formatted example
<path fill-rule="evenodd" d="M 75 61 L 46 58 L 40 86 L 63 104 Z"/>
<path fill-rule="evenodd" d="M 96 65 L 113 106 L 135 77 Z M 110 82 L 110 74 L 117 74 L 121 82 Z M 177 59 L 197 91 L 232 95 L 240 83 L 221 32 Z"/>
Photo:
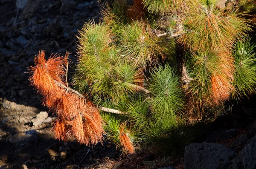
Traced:
<path fill-rule="evenodd" d="M 0 0 L 0 169 L 255 168 L 254 101 L 227 109 L 208 137 L 186 146 L 184 158 L 125 157 L 107 141 L 87 147 L 55 140 L 54 116 L 29 86 L 27 68 L 38 50 L 48 57 L 70 50 L 74 68 L 77 30 L 90 19 L 99 20 L 96 0 Z"/>

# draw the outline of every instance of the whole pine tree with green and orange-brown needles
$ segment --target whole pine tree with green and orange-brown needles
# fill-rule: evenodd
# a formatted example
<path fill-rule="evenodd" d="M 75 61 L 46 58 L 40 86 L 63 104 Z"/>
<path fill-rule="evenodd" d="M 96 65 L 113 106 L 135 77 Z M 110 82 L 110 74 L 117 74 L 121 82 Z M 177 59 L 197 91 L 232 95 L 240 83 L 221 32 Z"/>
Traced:
<path fill-rule="evenodd" d="M 68 54 L 40 52 L 31 68 L 58 139 L 106 134 L 128 154 L 147 145 L 175 155 L 193 137 L 187 119 L 256 92 L 255 0 L 114 0 L 101 12 L 79 31 L 76 90 Z"/>

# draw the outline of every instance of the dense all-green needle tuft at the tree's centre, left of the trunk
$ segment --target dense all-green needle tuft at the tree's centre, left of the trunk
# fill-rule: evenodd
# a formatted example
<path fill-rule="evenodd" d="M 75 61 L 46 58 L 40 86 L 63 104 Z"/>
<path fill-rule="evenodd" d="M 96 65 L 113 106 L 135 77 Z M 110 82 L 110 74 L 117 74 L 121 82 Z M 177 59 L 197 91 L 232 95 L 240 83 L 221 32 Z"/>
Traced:
<path fill-rule="evenodd" d="M 152 115 L 156 123 L 162 124 L 163 128 L 175 126 L 176 115 L 182 112 L 184 107 L 183 93 L 177 74 L 169 65 L 165 68 L 160 67 L 154 70 L 149 88 L 152 93 Z"/>

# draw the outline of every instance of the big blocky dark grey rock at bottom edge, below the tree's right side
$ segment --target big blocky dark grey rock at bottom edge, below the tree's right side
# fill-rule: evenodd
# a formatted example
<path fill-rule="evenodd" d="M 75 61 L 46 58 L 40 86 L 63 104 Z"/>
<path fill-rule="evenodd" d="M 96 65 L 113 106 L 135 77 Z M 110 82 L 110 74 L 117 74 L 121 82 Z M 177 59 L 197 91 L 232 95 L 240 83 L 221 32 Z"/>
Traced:
<path fill-rule="evenodd" d="M 227 169 L 236 156 L 222 144 L 192 143 L 185 148 L 185 169 Z"/>

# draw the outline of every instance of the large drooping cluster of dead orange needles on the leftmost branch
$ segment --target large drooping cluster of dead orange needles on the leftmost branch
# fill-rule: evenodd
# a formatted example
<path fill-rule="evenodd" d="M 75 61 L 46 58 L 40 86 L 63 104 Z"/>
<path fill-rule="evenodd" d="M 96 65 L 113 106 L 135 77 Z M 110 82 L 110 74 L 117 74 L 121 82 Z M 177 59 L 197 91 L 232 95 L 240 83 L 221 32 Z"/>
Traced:
<path fill-rule="evenodd" d="M 57 55 L 45 59 L 41 51 L 35 57 L 35 67 L 30 67 L 31 85 L 44 97 L 43 104 L 55 112 L 57 119 L 53 123 L 55 137 L 67 141 L 75 138 L 79 143 L 95 145 L 102 142 L 104 129 L 99 111 L 88 100 L 76 92 L 65 89 L 63 65 L 67 64 L 68 53 L 64 57 Z"/>

